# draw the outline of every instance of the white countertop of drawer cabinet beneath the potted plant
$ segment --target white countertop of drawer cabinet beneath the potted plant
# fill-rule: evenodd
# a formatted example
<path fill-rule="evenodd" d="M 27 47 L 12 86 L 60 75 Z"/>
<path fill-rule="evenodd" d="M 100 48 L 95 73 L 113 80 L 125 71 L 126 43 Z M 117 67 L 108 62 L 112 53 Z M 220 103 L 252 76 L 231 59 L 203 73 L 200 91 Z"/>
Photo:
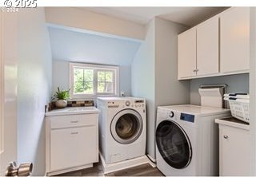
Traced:
<path fill-rule="evenodd" d="M 75 114 L 95 114 L 99 113 L 98 108 L 93 106 L 89 107 L 67 107 L 67 108 L 58 108 L 50 112 L 46 112 L 45 116 L 63 116 L 63 115 L 75 115 Z"/>

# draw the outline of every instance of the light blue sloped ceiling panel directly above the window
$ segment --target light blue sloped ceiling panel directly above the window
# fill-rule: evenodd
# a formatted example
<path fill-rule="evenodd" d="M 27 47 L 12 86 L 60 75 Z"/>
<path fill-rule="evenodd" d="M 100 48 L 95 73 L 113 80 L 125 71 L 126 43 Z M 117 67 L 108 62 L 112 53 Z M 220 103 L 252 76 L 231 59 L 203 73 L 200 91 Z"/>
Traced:
<path fill-rule="evenodd" d="M 140 42 L 49 27 L 54 60 L 130 65 Z"/>

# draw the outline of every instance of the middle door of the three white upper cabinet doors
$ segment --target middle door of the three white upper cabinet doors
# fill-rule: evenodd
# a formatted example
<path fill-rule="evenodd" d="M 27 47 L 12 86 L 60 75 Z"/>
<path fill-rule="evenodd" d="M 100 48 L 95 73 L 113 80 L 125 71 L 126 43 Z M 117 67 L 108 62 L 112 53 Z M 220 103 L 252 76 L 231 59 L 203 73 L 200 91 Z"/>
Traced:
<path fill-rule="evenodd" d="M 197 75 L 218 73 L 218 17 L 197 28 Z"/>

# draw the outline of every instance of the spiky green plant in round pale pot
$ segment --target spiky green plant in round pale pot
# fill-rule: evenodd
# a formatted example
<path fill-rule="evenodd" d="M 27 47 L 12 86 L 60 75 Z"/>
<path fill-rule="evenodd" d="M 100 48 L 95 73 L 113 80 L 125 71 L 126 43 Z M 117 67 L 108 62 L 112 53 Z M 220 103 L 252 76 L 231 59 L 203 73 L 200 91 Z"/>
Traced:
<path fill-rule="evenodd" d="M 70 98 L 70 89 L 68 90 L 60 90 L 54 93 L 54 98 L 57 99 L 55 102 L 56 107 L 58 108 L 66 108 L 67 99 Z"/>

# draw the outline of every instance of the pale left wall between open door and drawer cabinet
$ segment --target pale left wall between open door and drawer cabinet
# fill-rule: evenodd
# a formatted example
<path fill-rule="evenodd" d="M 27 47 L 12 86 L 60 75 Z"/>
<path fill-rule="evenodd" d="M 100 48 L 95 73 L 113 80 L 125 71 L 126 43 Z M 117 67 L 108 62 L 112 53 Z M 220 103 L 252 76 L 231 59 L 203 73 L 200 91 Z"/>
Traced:
<path fill-rule="evenodd" d="M 45 173 L 45 104 L 50 100 L 51 54 L 43 8 L 18 12 L 18 163 Z"/>

